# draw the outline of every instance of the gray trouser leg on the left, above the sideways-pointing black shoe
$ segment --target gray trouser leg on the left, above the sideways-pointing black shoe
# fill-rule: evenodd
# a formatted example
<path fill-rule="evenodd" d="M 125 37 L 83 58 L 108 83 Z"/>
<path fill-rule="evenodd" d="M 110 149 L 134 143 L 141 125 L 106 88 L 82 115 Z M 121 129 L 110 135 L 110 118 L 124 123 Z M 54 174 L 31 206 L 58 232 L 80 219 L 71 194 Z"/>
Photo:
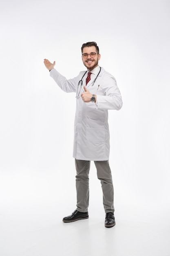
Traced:
<path fill-rule="evenodd" d="M 89 171 L 90 161 L 75 159 L 76 168 L 76 192 L 77 192 L 77 211 L 88 211 L 89 204 Z"/>

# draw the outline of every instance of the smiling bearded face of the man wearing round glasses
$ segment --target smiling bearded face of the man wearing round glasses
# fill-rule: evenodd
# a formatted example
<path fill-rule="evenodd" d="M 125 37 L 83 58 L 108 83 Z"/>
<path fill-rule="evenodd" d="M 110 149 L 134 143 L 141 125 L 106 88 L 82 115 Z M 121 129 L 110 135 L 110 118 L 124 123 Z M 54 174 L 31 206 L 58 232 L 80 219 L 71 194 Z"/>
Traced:
<path fill-rule="evenodd" d="M 97 52 L 96 51 L 96 47 L 95 46 L 90 46 L 90 47 L 84 47 L 83 49 L 83 53 L 82 54 L 90 54 L 92 52 Z M 88 71 L 93 70 L 95 67 L 98 66 L 98 61 L 100 59 L 100 54 L 95 54 L 94 57 L 91 57 L 90 55 L 88 55 L 87 58 L 84 58 L 84 56 L 82 56 L 82 61 L 84 66 L 86 66 L 86 68 L 88 69 Z"/>

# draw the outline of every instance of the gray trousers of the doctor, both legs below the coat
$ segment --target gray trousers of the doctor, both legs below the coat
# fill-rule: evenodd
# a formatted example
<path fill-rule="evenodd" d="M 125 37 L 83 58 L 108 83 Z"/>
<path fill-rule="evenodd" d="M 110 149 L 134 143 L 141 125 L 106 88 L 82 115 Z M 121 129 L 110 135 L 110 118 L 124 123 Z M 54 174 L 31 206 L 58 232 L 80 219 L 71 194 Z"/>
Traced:
<path fill-rule="evenodd" d="M 94 161 L 97 169 L 97 178 L 102 184 L 103 205 L 105 213 L 114 212 L 113 206 L 113 181 L 110 166 L 107 161 Z M 88 211 L 89 204 L 89 171 L 91 161 L 75 159 L 76 168 L 76 192 L 77 192 L 77 211 Z"/>

